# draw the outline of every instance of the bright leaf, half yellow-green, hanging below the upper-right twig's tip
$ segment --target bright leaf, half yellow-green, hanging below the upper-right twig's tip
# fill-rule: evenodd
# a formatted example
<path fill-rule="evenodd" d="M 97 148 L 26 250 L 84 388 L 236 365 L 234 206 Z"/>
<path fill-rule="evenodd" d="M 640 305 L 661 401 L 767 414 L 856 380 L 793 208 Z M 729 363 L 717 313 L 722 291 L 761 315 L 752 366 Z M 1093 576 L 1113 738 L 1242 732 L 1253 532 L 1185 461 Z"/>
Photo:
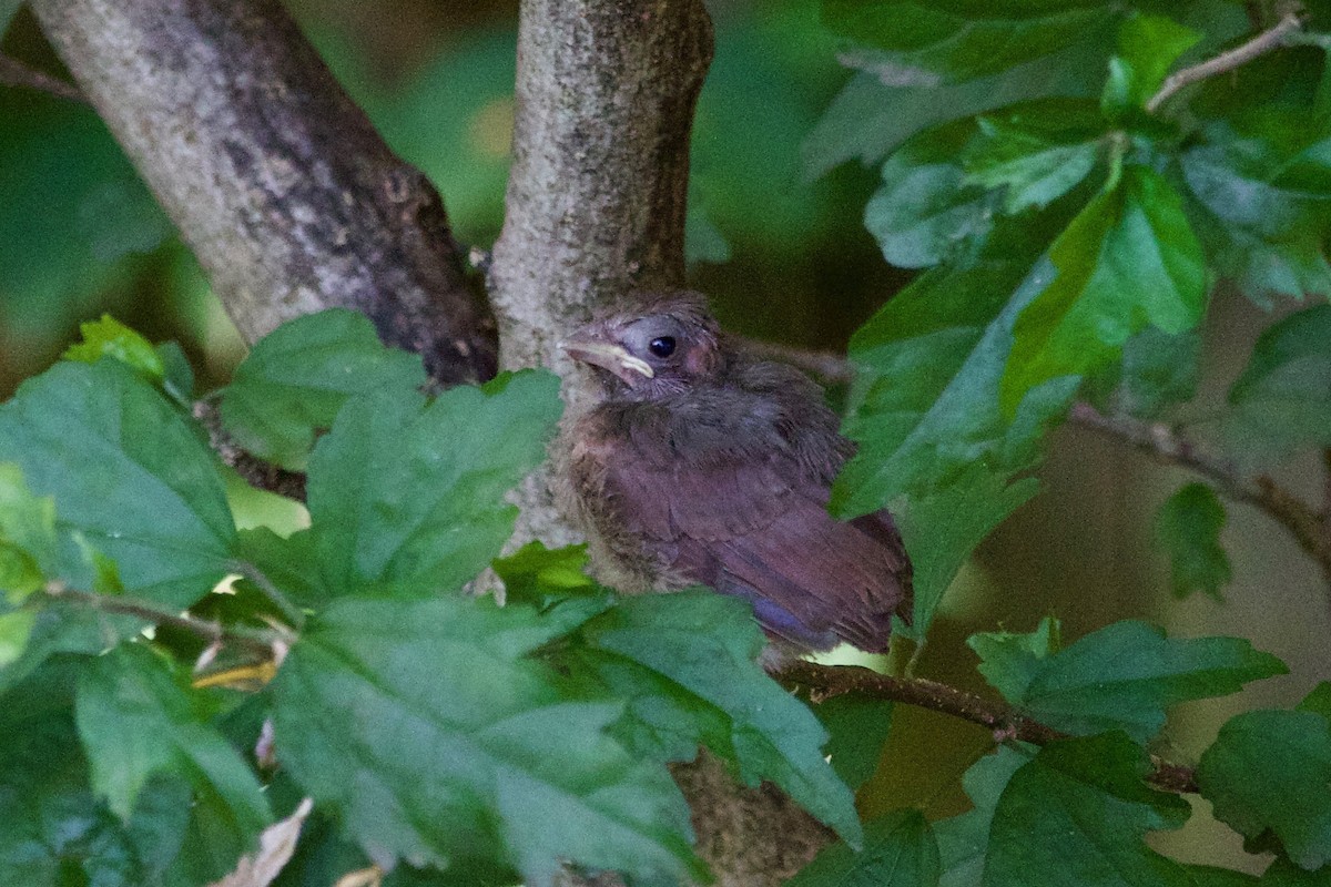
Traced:
<path fill-rule="evenodd" d="M 1178 194 L 1155 172 L 1129 165 L 1113 190 L 1087 203 L 1049 249 L 1055 275 L 1013 328 L 1002 407 L 1051 379 L 1082 375 L 1155 326 L 1193 328 L 1206 306 L 1202 247 Z"/>

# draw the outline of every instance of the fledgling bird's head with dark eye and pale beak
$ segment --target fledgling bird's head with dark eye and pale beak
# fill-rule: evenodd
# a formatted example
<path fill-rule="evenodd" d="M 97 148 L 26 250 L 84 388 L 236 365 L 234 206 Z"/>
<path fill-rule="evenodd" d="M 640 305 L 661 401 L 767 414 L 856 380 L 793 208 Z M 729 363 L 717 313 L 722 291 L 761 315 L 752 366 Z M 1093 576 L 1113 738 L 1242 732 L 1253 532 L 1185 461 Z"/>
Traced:
<path fill-rule="evenodd" d="M 684 391 L 725 362 L 716 320 L 688 291 L 636 294 L 559 344 L 592 367 L 607 394 L 635 400 Z"/>

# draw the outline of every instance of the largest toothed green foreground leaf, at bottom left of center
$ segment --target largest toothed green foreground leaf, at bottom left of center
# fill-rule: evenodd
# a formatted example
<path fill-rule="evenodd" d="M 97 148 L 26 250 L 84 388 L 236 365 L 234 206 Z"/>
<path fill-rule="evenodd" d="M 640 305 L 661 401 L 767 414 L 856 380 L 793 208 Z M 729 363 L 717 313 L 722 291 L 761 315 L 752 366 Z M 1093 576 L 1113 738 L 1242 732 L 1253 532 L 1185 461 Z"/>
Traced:
<path fill-rule="evenodd" d="M 334 602 L 270 684 L 284 767 L 381 864 L 466 858 L 547 883 L 560 860 L 700 876 L 688 807 L 527 654 L 584 618 L 484 600 Z M 347 701 L 354 701 L 349 705 Z"/>

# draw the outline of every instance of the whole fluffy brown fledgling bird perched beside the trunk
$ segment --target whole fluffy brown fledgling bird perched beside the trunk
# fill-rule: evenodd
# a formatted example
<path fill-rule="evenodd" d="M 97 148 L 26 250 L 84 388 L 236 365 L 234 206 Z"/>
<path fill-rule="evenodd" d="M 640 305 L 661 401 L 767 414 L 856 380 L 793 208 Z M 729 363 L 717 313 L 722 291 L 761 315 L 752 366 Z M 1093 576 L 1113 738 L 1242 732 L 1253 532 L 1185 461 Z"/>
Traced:
<path fill-rule="evenodd" d="M 813 382 L 743 354 L 687 291 L 640 294 L 562 347 L 599 382 L 562 449 L 606 581 L 711 585 L 783 646 L 886 649 L 910 561 L 886 511 L 828 513 L 853 444 Z"/>

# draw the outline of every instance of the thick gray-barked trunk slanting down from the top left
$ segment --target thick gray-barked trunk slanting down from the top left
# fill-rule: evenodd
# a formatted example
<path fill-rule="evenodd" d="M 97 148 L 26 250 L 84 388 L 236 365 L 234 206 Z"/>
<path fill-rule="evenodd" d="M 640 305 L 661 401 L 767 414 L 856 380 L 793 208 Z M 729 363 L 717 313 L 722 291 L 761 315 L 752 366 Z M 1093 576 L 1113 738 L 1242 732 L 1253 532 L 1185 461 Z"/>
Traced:
<path fill-rule="evenodd" d="M 494 374 L 438 193 L 394 157 L 276 0 L 32 9 L 248 340 L 331 306 L 441 383 Z"/>

